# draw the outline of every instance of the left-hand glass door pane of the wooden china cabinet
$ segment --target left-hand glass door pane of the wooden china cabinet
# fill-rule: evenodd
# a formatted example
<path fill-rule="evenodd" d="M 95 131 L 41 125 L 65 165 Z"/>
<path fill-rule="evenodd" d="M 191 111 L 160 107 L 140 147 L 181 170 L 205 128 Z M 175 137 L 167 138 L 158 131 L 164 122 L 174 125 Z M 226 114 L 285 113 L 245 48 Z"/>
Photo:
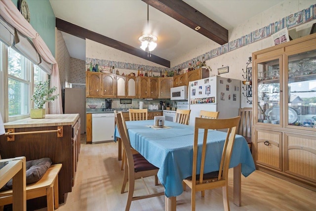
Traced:
<path fill-rule="evenodd" d="M 258 122 L 280 125 L 280 57 L 257 65 Z"/>

